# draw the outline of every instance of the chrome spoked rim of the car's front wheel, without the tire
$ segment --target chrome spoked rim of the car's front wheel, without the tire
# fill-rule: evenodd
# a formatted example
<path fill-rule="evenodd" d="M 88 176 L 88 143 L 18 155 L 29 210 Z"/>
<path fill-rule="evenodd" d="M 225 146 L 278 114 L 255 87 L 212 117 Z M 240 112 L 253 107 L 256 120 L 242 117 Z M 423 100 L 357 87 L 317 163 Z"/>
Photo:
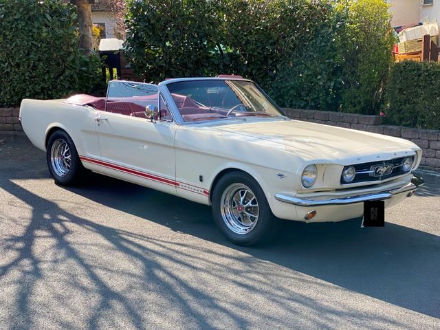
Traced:
<path fill-rule="evenodd" d="M 244 184 L 231 184 L 221 195 L 221 217 L 236 234 L 248 234 L 259 220 L 259 203 Z"/>

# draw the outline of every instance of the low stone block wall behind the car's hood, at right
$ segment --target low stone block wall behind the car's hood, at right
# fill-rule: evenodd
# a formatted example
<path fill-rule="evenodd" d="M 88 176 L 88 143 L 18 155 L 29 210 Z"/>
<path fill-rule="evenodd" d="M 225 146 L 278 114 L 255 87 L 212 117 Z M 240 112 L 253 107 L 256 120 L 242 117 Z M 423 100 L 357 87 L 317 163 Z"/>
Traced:
<path fill-rule="evenodd" d="M 358 115 L 331 111 L 283 109 L 289 118 L 316 122 L 332 126 L 358 129 L 410 140 L 422 148 L 421 166 L 440 171 L 440 131 L 432 129 L 412 129 L 410 127 L 382 124 L 379 115 Z"/>

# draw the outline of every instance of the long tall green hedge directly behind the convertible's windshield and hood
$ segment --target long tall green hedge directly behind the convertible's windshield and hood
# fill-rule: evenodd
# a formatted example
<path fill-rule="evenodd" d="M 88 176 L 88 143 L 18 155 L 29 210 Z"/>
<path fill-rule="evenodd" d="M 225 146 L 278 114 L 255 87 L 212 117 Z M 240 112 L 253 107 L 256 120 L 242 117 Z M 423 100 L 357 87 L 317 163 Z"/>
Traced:
<path fill-rule="evenodd" d="M 241 74 L 286 107 L 377 113 L 391 65 L 384 0 L 128 0 L 146 81 Z"/>

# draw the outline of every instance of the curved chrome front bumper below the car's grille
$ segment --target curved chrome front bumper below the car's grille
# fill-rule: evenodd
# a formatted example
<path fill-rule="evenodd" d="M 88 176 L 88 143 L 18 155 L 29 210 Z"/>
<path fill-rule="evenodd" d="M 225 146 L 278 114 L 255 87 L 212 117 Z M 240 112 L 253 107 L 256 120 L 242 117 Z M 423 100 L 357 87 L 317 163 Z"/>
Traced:
<path fill-rule="evenodd" d="M 275 194 L 275 199 L 284 203 L 294 204 L 296 206 L 322 206 L 322 205 L 346 205 L 353 203 L 361 203 L 363 201 L 383 201 L 390 199 L 393 195 L 401 194 L 402 192 L 414 192 L 419 186 L 424 183 L 421 177 L 414 176 L 411 181 L 401 188 L 395 188 L 393 190 L 385 190 L 376 192 L 374 194 L 349 196 L 333 199 L 303 199 L 284 195 L 281 193 Z"/>

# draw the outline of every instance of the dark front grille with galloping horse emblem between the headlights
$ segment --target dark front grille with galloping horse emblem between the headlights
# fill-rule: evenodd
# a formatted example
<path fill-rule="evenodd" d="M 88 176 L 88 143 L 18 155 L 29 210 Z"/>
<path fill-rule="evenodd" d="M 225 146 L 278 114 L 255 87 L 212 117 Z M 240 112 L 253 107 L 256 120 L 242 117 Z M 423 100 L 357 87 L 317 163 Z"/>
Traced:
<path fill-rule="evenodd" d="M 406 158 L 408 157 L 395 158 L 385 161 L 382 160 L 380 162 L 369 162 L 363 164 L 344 166 L 344 170 L 346 170 L 350 166 L 353 166 L 356 170 L 356 175 L 353 181 L 351 182 L 344 181 L 341 175 L 340 182 L 341 184 L 356 184 L 359 182 L 380 181 L 380 180 L 388 179 L 390 177 L 396 177 L 397 175 L 408 173 L 402 169 L 402 164 L 404 162 L 404 159 Z M 414 160 L 415 160 L 414 157 L 412 157 L 412 162 L 414 162 Z M 380 175 L 380 171 L 378 170 L 375 171 L 375 168 L 377 168 L 377 166 L 389 166 L 389 167 L 382 175 Z M 342 170 L 342 173 L 344 173 L 344 170 Z"/>

